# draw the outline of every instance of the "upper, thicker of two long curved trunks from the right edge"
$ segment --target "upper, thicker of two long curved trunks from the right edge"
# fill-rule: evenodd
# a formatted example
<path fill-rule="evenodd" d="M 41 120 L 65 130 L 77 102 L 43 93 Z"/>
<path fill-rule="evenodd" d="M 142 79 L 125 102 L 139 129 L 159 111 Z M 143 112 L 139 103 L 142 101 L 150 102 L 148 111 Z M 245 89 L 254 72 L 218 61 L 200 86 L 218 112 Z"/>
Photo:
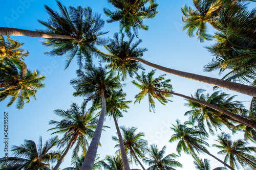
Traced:
<path fill-rule="evenodd" d="M 192 80 L 199 81 L 199 82 L 206 83 L 206 84 L 219 86 L 219 87 L 226 88 L 229 90 L 237 91 L 239 93 L 247 94 L 250 96 L 256 96 L 256 87 L 253 87 L 253 86 L 247 86 L 247 85 L 243 85 L 243 84 L 239 84 L 239 83 L 229 82 L 229 81 L 220 80 L 220 79 L 216 79 L 216 78 L 210 78 L 210 77 L 206 77 L 206 76 L 191 74 L 189 72 L 170 69 L 170 68 L 166 68 L 166 67 L 163 67 L 163 66 L 160 66 L 157 64 L 153 64 L 151 62 L 148 62 L 148 61 L 145 61 L 145 60 L 142 60 L 139 58 L 134 58 L 134 57 L 126 57 L 126 58 L 130 59 L 130 60 L 134 60 L 134 61 L 139 61 L 141 63 L 144 63 L 148 66 L 157 68 L 157 69 L 167 72 L 169 74 L 184 77 L 187 79 L 192 79 Z"/>

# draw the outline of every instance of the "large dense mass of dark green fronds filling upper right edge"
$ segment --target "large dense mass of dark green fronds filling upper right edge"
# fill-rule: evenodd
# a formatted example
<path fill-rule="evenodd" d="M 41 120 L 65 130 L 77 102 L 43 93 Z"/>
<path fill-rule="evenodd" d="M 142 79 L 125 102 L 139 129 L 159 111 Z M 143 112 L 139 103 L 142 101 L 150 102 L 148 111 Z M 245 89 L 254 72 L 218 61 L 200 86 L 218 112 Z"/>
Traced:
<path fill-rule="evenodd" d="M 219 70 L 220 74 L 229 70 L 223 80 L 255 86 L 255 9 L 248 11 L 247 3 L 225 2 L 215 21 L 220 30 L 215 35 L 217 42 L 206 47 L 214 59 L 204 70 Z"/>

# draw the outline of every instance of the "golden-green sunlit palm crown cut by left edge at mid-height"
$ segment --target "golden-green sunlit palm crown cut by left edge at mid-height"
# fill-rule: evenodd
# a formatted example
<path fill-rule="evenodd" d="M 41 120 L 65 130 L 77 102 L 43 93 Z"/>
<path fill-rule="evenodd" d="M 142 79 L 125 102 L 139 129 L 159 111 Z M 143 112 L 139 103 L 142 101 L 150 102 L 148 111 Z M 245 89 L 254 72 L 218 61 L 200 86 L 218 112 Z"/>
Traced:
<path fill-rule="evenodd" d="M 35 93 L 37 89 L 45 87 L 41 82 L 46 79 L 39 74 L 38 70 L 28 70 L 24 63 L 14 65 L 8 61 L 0 62 L 0 102 L 11 96 L 7 107 L 17 99 L 16 108 L 22 109 L 25 101 L 30 102 L 30 96 L 36 100 Z"/>

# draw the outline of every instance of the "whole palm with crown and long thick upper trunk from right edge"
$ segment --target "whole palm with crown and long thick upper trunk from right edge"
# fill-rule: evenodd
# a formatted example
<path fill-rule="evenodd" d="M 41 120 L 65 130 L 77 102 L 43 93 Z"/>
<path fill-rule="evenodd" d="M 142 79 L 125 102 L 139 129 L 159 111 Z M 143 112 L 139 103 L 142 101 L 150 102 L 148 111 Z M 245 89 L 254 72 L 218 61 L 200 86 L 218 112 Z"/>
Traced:
<path fill-rule="evenodd" d="M 123 41 L 122 39 L 123 38 L 121 37 L 120 42 Z M 131 38 L 130 38 L 130 41 L 131 41 Z M 118 65 L 118 67 L 121 67 L 123 70 L 130 70 L 129 67 L 132 67 L 132 66 L 133 66 L 132 70 L 138 69 L 136 64 L 130 65 L 131 61 L 129 61 L 129 60 L 132 60 L 133 63 L 134 63 L 134 61 L 138 61 L 138 62 L 144 63 L 148 66 L 154 67 L 154 68 L 162 70 L 164 72 L 167 72 L 169 74 L 184 77 L 187 79 L 192 79 L 192 80 L 203 82 L 206 84 L 215 85 L 218 87 L 223 87 L 223 88 L 237 91 L 240 93 L 244 93 L 247 95 L 256 96 L 256 87 L 247 86 L 247 85 L 238 84 L 238 83 L 229 82 L 229 81 L 224 81 L 224 80 L 219 80 L 219 79 L 210 78 L 210 77 L 206 77 L 206 76 L 195 75 L 195 74 L 191 74 L 189 72 L 179 71 L 179 70 L 163 67 L 163 66 L 145 61 L 145 60 L 141 59 L 141 56 L 143 55 L 143 52 L 146 51 L 146 48 L 137 48 L 136 53 L 135 53 L 136 55 L 134 55 L 132 53 L 133 56 L 130 56 L 130 54 L 131 54 L 130 52 L 132 50 L 136 49 L 135 47 L 137 47 L 140 42 L 141 42 L 141 40 L 136 42 L 135 45 L 133 45 L 131 48 L 130 47 L 131 43 L 129 43 L 129 42 L 119 43 L 118 35 L 115 34 L 114 39 L 109 44 L 110 47 L 105 46 L 105 47 L 107 47 L 110 54 L 101 54 L 101 56 L 103 56 L 105 58 L 105 60 L 109 61 L 112 65 Z M 120 46 L 120 44 L 127 44 L 127 47 L 124 48 L 124 47 Z"/>

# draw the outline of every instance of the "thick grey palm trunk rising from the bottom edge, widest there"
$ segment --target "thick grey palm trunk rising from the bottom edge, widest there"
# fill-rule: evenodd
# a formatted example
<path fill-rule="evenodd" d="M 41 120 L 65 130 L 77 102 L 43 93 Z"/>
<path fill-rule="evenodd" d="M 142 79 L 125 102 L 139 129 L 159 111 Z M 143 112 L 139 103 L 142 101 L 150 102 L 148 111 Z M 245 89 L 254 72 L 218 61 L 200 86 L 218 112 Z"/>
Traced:
<path fill-rule="evenodd" d="M 94 164 L 94 161 L 95 161 L 95 158 L 97 155 L 97 150 L 99 147 L 99 140 L 100 140 L 101 132 L 103 129 L 103 123 L 104 123 L 105 112 L 106 112 L 104 89 L 101 89 L 101 100 L 102 100 L 102 108 L 101 108 L 101 112 L 99 115 L 98 124 L 97 124 L 95 132 L 93 134 L 93 138 L 89 145 L 87 154 L 84 157 L 81 170 L 92 170 L 93 164 Z"/>

